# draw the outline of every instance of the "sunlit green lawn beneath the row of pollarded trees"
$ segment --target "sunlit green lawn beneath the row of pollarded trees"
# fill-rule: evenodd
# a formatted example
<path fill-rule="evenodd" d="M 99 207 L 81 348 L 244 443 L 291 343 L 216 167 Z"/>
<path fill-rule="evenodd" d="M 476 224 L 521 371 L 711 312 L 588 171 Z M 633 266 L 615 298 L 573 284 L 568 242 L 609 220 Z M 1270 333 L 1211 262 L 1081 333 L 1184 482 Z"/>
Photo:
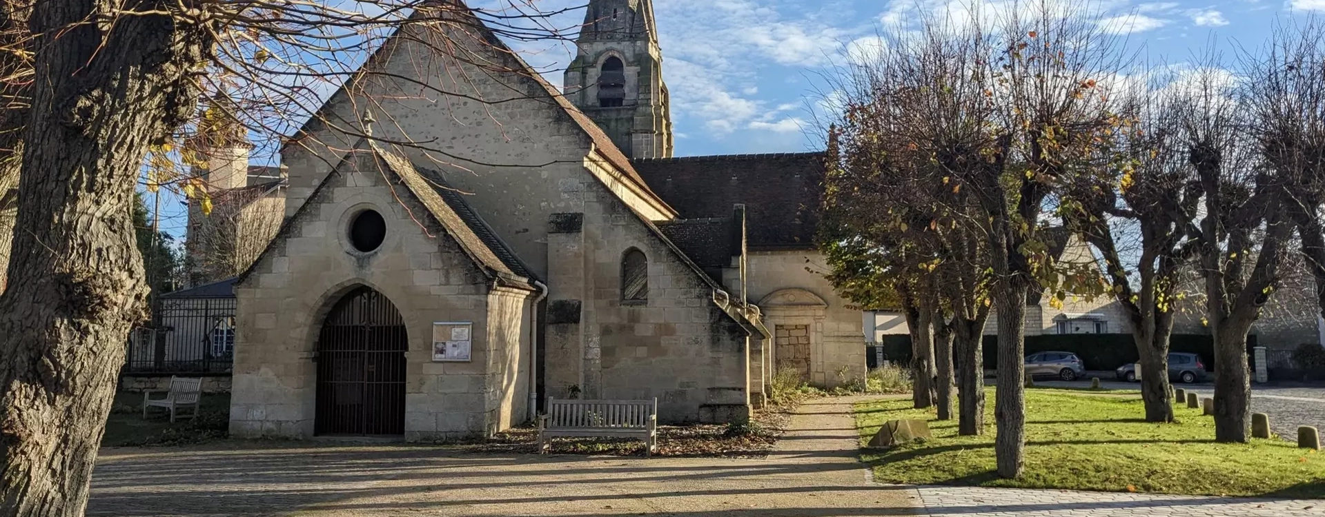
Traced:
<path fill-rule="evenodd" d="M 856 405 L 861 446 L 885 420 L 926 419 L 934 439 L 863 450 L 881 483 L 1137 491 L 1185 495 L 1325 497 L 1325 455 L 1272 439 L 1214 443 L 1214 422 L 1177 407 L 1179 423 L 1146 423 L 1140 395 L 1030 389 L 1026 473 L 994 472 L 994 390 L 983 436 L 958 436 L 957 420 L 933 420 L 910 399 Z"/>

